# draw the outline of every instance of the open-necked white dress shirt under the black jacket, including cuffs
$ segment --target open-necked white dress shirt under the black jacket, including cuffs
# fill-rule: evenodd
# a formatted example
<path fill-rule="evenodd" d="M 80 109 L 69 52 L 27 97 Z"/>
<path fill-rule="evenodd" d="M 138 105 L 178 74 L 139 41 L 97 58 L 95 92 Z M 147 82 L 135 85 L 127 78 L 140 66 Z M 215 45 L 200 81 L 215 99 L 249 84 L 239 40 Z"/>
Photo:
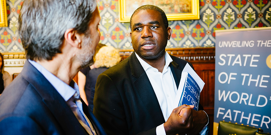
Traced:
<path fill-rule="evenodd" d="M 154 89 L 154 93 L 156 94 L 157 100 L 159 102 L 160 108 L 162 110 L 165 121 L 168 120 L 170 114 L 172 113 L 176 93 L 177 86 L 175 84 L 175 80 L 173 74 L 170 70 L 169 64 L 173 60 L 170 55 L 166 52 L 165 60 L 166 64 L 163 68 L 162 73 L 158 71 L 158 69 L 152 67 L 147 62 L 142 60 L 138 54 L 136 54 L 140 64 L 143 69 L 147 73 L 149 81 L 152 84 L 152 88 Z M 207 115 L 207 114 L 206 114 Z M 207 125 L 200 132 L 201 135 L 204 135 L 207 131 Z M 156 135 L 166 135 L 166 131 L 164 129 L 164 124 L 156 127 Z"/>

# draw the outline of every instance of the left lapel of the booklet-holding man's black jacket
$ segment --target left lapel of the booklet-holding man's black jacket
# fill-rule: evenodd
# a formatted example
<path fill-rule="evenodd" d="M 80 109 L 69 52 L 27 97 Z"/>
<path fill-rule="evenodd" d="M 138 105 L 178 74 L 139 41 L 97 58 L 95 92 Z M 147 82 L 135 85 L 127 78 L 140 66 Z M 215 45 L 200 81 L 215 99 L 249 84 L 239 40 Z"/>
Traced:
<path fill-rule="evenodd" d="M 149 115 L 153 122 L 158 126 L 165 123 L 163 113 L 161 111 L 159 102 L 156 98 L 152 84 L 149 78 L 138 61 L 135 52 L 129 57 L 129 64 L 131 67 L 133 78 L 133 84 L 138 92 L 142 102 L 144 103 Z"/>

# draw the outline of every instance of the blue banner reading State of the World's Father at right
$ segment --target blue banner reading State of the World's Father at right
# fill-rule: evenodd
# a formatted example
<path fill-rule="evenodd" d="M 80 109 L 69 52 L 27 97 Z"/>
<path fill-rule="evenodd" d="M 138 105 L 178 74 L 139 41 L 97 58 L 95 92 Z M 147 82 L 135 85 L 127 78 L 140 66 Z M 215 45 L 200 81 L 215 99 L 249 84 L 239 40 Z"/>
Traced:
<path fill-rule="evenodd" d="M 271 27 L 215 33 L 214 135 L 222 120 L 271 133 Z"/>

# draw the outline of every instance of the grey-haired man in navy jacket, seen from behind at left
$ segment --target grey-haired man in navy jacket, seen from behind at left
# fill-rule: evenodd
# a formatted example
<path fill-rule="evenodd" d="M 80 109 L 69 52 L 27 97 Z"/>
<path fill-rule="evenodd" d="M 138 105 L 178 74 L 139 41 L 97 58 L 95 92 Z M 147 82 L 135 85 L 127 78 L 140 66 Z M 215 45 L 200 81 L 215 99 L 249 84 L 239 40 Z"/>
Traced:
<path fill-rule="evenodd" d="M 80 100 L 76 73 L 100 39 L 96 0 L 24 0 L 19 33 L 27 56 L 0 96 L 0 134 L 105 135 Z"/>

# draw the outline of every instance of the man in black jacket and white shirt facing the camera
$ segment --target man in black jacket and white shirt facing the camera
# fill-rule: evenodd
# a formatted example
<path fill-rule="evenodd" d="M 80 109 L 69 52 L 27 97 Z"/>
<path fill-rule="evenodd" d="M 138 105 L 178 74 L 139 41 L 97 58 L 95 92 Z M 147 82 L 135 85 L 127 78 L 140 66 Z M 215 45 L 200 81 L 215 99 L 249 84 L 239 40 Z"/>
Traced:
<path fill-rule="evenodd" d="M 105 132 L 206 134 L 204 111 L 189 105 L 173 108 L 187 61 L 165 51 L 171 28 L 163 10 L 141 6 L 133 13 L 130 26 L 134 52 L 99 75 L 95 87 L 93 112 Z"/>

